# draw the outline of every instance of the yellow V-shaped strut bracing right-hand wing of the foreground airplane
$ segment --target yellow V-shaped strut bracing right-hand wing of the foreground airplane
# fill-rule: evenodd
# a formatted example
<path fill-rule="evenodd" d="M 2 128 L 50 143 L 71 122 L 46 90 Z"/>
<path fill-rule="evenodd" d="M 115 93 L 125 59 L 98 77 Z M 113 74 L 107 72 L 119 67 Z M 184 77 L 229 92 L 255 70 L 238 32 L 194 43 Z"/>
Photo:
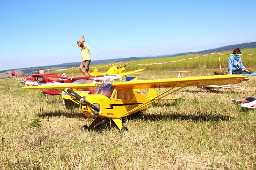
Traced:
<path fill-rule="evenodd" d="M 170 90 L 172 90 L 172 89 L 174 89 L 174 88 L 180 86 L 181 84 L 184 84 L 184 83 L 180 83 L 180 84 L 178 84 L 178 85 L 176 85 L 176 86 L 173 86 L 172 88 L 170 88 L 170 89 L 164 91 L 163 93 L 157 95 L 156 97 L 154 97 L 154 98 L 152 98 L 152 99 L 149 99 L 147 102 L 145 102 L 145 103 L 143 103 L 143 104 L 141 104 L 141 105 L 135 107 L 134 109 L 132 109 L 132 110 L 130 110 L 130 111 L 124 113 L 123 115 L 121 115 L 121 116 L 119 116 L 119 117 L 117 117 L 117 118 L 121 118 L 121 117 L 124 117 L 124 116 L 128 116 L 130 113 L 134 112 L 135 110 L 138 110 L 138 109 L 140 109 L 140 108 L 142 108 L 142 107 L 144 107 L 144 106 L 146 106 L 146 105 L 148 105 L 148 104 L 151 104 L 151 103 L 153 103 L 153 102 L 156 102 L 157 100 L 159 100 L 159 99 L 161 99 L 161 98 L 163 98 L 163 97 L 165 97 L 165 96 L 167 96 L 167 95 L 170 95 L 170 94 L 172 94 L 172 93 L 174 93 L 174 92 L 176 92 L 176 91 L 178 91 L 178 90 L 180 90 L 180 89 L 183 89 L 184 87 L 187 87 L 187 86 L 188 86 L 187 84 L 184 84 L 184 86 L 182 86 L 182 87 L 180 87 L 180 88 L 178 88 L 178 89 L 176 89 L 176 90 L 173 90 L 173 91 L 171 91 L 170 93 L 164 95 L 164 94 L 167 93 L 168 91 L 170 91 Z M 155 88 L 155 87 L 154 87 L 154 88 Z M 164 95 L 164 96 L 161 96 L 161 95 Z M 161 96 L 161 97 L 159 97 L 159 96 Z M 158 98 L 158 97 L 159 97 L 159 98 Z"/>

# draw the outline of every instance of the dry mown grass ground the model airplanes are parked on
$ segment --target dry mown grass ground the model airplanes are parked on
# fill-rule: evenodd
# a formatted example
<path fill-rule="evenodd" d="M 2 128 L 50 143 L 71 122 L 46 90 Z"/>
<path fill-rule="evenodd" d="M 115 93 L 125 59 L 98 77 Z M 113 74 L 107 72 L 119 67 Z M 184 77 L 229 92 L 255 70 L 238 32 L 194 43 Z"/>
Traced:
<path fill-rule="evenodd" d="M 171 71 L 178 66 L 162 66 L 132 76 L 177 77 Z M 183 77 L 204 76 L 218 65 L 180 69 L 191 71 Z M 248 69 L 255 71 L 255 62 Z M 256 77 L 237 84 L 244 91 L 182 89 L 169 96 L 180 100 L 160 101 L 127 119 L 129 132 L 123 134 L 104 123 L 95 131 L 80 131 L 92 118 L 66 109 L 60 96 L 46 100 L 40 91 L 21 90 L 15 79 L 2 79 L 0 86 L 0 169 L 256 168 L 256 111 L 231 101 L 256 96 Z"/>

